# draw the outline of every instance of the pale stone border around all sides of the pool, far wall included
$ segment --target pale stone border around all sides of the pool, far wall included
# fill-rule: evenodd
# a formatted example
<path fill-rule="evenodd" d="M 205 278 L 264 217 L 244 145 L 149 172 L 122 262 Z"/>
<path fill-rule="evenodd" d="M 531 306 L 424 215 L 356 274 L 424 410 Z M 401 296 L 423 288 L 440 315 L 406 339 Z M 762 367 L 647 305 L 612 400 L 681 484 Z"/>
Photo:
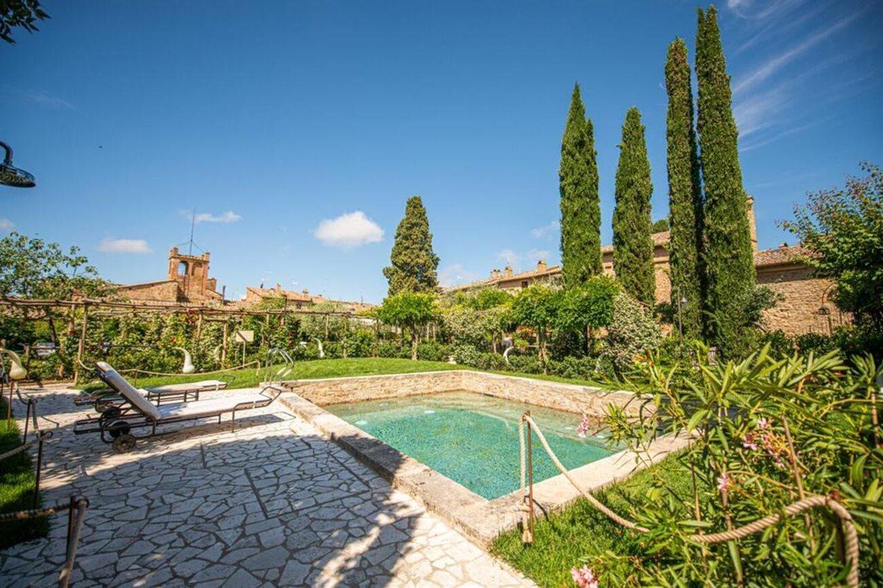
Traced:
<path fill-rule="evenodd" d="M 450 374 L 467 375 L 463 378 L 450 377 Z M 422 377 L 413 378 L 412 376 Z M 329 398 L 335 398 L 333 402 L 338 403 L 347 401 L 358 402 L 383 397 L 413 396 L 465 389 L 489 396 L 506 397 L 510 400 L 536 404 L 536 402 L 532 402 L 530 399 L 525 399 L 524 396 L 515 396 L 516 392 L 511 388 L 509 388 L 509 393 L 503 396 L 502 394 L 494 394 L 493 390 L 496 389 L 494 385 L 480 386 L 482 381 L 500 384 L 501 381 L 496 380 L 499 378 L 503 379 L 503 384 L 509 383 L 506 381 L 507 379 L 521 381 L 518 382 L 520 386 L 517 388 L 521 388 L 526 382 L 528 384 L 536 383 L 540 385 L 538 388 L 545 388 L 542 386 L 543 384 L 579 388 L 577 390 L 570 390 L 570 392 L 584 395 L 586 393 L 590 395 L 611 394 L 599 388 L 531 380 L 514 376 L 501 376 L 493 373 L 472 372 L 471 370 L 457 370 L 386 376 L 354 376 L 351 378 L 329 378 L 319 381 L 288 381 L 283 384 L 292 391 L 283 394 L 280 402 L 299 417 L 309 421 L 329 440 L 335 441 L 360 462 L 389 480 L 394 487 L 411 494 L 411 496 L 421 501 L 426 506 L 426 509 L 437 516 L 441 516 L 445 521 L 453 525 L 457 531 L 464 533 L 467 538 L 479 545 L 479 547 L 487 548 L 502 531 L 508 531 L 518 524 L 522 503 L 520 490 L 489 501 L 438 471 L 420 464 L 411 456 L 407 456 L 398 449 L 390 447 L 373 435 L 362 431 L 357 426 L 351 425 L 343 418 L 336 417 L 336 415 L 325 411 L 313 401 L 313 398 L 321 398 L 318 402 L 323 404 L 332 403 L 332 401 L 328 400 Z M 433 381 L 436 382 L 436 385 L 429 387 L 433 389 L 427 389 L 426 384 Z M 369 382 L 375 386 L 379 384 L 387 386 L 381 386 L 382 389 L 373 388 L 372 390 L 366 390 L 365 385 Z M 472 384 L 472 386 L 464 384 Z M 450 386 L 454 385 L 457 387 L 450 388 Z M 298 392 L 294 390 L 298 390 Z M 301 393 L 304 393 L 304 396 L 301 396 Z M 341 397 L 349 394 L 352 396 L 348 398 Z M 630 393 L 620 392 L 612 394 L 629 395 Z M 305 396 L 313 396 L 313 398 Z M 573 399 L 571 398 L 571 400 Z M 625 402 L 625 399 L 622 397 L 619 400 Z M 597 410 L 597 401 L 598 398 L 590 398 L 574 405 L 591 405 L 596 407 Z M 616 400 L 610 401 L 616 402 Z M 554 402 L 560 403 L 561 399 L 557 398 Z M 560 405 L 549 406 L 548 402 L 543 405 L 549 408 L 566 410 L 562 409 Z M 571 410 L 571 412 L 576 411 Z M 635 454 L 629 450 L 623 450 L 591 464 L 585 464 L 570 470 L 570 475 L 576 479 L 583 489 L 595 490 L 601 486 L 608 486 L 627 478 L 633 472 L 660 461 L 668 453 L 683 449 L 686 444 L 687 440 L 683 437 L 663 437 L 653 442 L 647 450 L 647 455 L 642 456 L 643 459 L 639 464 L 636 462 Z M 542 451 L 543 449 L 537 444 L 535 450 Z M 537 516 L 542 516 L 543 512 L 550 513 L 562 509 L 570 502 L 575 501 L 579 495 L 577 489 L 562 474 L 533 485 L 534 501 L 537 504 Z"/>

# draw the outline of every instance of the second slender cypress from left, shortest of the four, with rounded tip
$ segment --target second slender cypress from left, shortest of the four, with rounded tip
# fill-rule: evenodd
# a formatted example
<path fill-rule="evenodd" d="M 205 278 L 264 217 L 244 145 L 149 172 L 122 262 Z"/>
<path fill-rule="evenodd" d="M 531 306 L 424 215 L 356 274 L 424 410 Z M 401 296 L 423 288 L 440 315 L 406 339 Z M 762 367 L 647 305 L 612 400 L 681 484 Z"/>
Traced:
<path fill-rule="evenodd" d="M 625 116 L 623 141 L 616 167 L 613 213 L 613 269 L 623 289 L 645 305 L 653 305 L 653 239 L 650 237 L 650 161 L 641 113 L 632 107 Z"/>

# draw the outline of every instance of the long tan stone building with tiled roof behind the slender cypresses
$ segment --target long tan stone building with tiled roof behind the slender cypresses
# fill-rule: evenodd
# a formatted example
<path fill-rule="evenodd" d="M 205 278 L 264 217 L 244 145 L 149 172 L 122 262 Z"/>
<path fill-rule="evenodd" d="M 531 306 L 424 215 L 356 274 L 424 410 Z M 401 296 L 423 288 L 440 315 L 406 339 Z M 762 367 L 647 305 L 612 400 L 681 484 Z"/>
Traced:
<path fill-rule="evenodd" d="M 799 258 L 805 250 L 800 245 L 781 244 L 775 249 L 758 251 L 758 231 L 754 217 L 753 199 L 749 199 L 748 219 L 751 227 L 751 243 L 754 246 L 754 265 L 758 272 L 758 284 L 769 286 L 782 296 L 782 300 L 769 311 L 764 320 L 766 327 L 781 329 L 789 335 L 801 333 L 829 334 L 834 328 L 849 323 L 849 313 L 842 313 L 830 300 L 834 283 L 811 275 L 811 269 Z M 601 248 L 604 273 L 614 275 L 613 245 Z M 653 234 L 653 266 L 656 278 L 656 301 L 671 299 L 672 284 L 668 272 L 668 231 Z M 489 278 L 478 282 L 454 286 L 447 291 L 477 290 L 488 286 L 504 290 L 520 290 L 532 283 L 561 283 L 562 268 L 547 267 L 540 260 L 537 267 L 525 272 L 513 273 L 512 268 L 491 271 Z"/>

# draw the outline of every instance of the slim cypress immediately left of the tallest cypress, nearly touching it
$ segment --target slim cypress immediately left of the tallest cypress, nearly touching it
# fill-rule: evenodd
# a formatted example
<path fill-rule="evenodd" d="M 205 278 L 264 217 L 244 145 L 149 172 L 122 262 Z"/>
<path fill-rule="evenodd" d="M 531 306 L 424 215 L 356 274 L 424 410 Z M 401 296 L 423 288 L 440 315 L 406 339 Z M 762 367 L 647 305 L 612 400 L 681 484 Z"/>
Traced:
<path fill-rule="evenodd" d="M 693 130 L 693 93 L 687 44 L 677 38 L 668 45 L 665 64 L 668 90 L 668 262 L 671 303 L 680 309 L 683 334 L 702 333 L 703 274 L 702 185 Z M 679 301 L 683 298 L 685 303 Z"/>

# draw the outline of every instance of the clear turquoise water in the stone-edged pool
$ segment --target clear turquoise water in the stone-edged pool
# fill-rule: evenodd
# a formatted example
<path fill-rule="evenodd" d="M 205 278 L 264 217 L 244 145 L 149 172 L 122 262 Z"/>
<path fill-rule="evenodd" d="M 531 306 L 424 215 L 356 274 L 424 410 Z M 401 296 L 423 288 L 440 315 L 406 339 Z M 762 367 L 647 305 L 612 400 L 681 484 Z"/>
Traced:
<path fill-rule="evenodd" d="M 517 490 L 518 420 L 525 410 L 569 470 L 607 457 L 603 438 L 577 437 L 580 417 L 472 392 L 404 396 L 323 407 L 488 500 Z M 534 438 L 533 480 L 559 472 Z"/>

